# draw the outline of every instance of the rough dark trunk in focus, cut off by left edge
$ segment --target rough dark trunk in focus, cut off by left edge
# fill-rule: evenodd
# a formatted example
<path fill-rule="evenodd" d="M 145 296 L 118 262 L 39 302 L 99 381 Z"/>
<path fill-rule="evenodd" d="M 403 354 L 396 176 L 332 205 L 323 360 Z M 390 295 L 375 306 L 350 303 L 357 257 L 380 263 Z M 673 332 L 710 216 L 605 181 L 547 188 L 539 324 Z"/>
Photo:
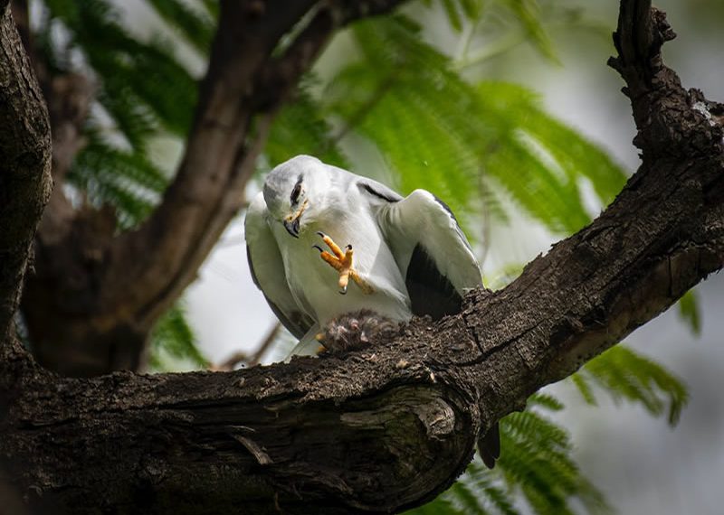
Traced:
<path fill-rule="evenodd" d="M 0 2 L 0 341 L 7 340 L 52 190 L 48 110 L 7 4 Z"/>

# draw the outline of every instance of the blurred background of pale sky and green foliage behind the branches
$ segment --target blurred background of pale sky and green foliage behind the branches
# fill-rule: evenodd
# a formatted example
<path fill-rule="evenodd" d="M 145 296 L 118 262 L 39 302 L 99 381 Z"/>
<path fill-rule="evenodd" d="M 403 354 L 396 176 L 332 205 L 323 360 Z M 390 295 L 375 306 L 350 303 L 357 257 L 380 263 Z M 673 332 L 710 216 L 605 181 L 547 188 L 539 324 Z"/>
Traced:
<path fill-rule="evenodd" d="M 159 9 L 163 4 L 110 5 L 115 23 L 140 41 L 166 42 L 189 76 L 199 79 L 204 52 L 176 30 L 173 15 Z M 198 9 L 190 0 L 180 4 Z M 49 45 L 72 47 L 72 23 L 58 14 L 59 5 L 32 2 L 31 14 L 42 21 L 38 30 L 49 33 Z M 679 35 L 664 45 L 666 63 L 686 87 L 724 99 L 724 3 L 657 5 Z M 292 107 L 282 111 L 247 198 L 273 164 L 299 153 L 319 155 L 400 192 L 427 188 L 459 215 L 486 285 L 504 286 L 551 243 L 595 217 L 638 167 L 623 81 L 605 64 L 614 53 L 617 9 L 613 0 L 411 2 L 397 16 L 357 23 L 329 44 Z M 65 66 L 87 66 L 82 48 L 66 50 Z M 114 124 L 108 107 L 91 117 L 96 128 Z M 123 135 L 114 134 L 101 139 L 119 144 Z M 148 159 L 170 175 L 183 152 L 183 131 L 159 129 L 149 138 Z M 69 195 L 85 190 L 94 192 L 90 201 L 115 205 L 122 228 L 143 220 L 135 204 L 100 187 L 87 162 L 74 173 Z M 152 209 L 153 196 L 134 187 L 129 192 Z M 252 284 L 243 212 L 175 309 L 155 332 L 152 370 L 271 362 L 293 344 Z M 504 426 L 511 435 L 503 441 L 504 457 L 522 449 L 520 456 L 550 468 L 510 460 L 490 474 L 473 466 L 462 487 L 427 512 L 596 512 L 607 504 L 624 514 L 721 513 L 721 314 L 724 276 L 717 275 L 627 338 L 631 355 L 609 356 L 575 381 L 548 387 L 532 402 L 539 419 L 514 418 Z M 678 423 L 667 424 L 667 416 Z M 525 423 L 541 424 L 553 444 L 518 435 Z M 557 435 L 557 426 L 569 435 Z M 552 447 L 538 455 L 527 445 Z M 557 469 L 551 463 L 558 458 L 570 466 L 566 461 Z M 527 482 L 546 470 L 550 478 L 541 495 L 548 501 L 538 502 L 540 492 Z M 498 494 L 510 504 L 496 500 Z"/>

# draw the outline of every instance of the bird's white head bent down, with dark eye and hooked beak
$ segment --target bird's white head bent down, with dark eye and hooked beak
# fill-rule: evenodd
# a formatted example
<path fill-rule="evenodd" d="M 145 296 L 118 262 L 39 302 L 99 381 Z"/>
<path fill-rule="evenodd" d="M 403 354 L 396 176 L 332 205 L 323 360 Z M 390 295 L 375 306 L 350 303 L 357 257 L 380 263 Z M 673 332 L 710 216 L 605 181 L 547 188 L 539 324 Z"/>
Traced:
<path fill-rule="evenodd" d="M 325 166 L 316 157 L 298 155 L 274 168 L 264 182 L 267 209 L 294 238 L 318 211 L 328 182 Z"/>

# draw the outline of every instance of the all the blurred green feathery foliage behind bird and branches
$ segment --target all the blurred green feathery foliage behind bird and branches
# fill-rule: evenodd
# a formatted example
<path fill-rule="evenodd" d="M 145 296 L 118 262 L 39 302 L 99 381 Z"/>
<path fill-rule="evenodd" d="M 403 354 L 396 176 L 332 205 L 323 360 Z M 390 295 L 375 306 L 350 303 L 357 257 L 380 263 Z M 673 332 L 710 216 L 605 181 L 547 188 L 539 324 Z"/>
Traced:
<path fill-rule="evenodd" d="M 586 225 L 596 213 L 586 208 L 584 190 L 605 206 L 623 187 L 624 172 L 600 147 L 550 116 L 534 92 L 492 79 L 471 81 L 462 70 L 521 43 L 556 62 L 549 27 L 591 25 L 579 11 L 535 0 L 422 4 L 356 23 L 340 36 L 338 42 L 353 45 L 352 57 L 301 81 L 271 127 L 260 170 L 298 154 L 353 167 L 345 145 L 364 141 L 382 157 L 392 185 L 402 192 L 435 192 L 463 225 L 482 216 L 505 224 L 510 210 L 527 213 L 561 237 Z M 146 5 L 176 40 L 139 38 L 107 0 L 44 0 L 35 23 L 53 73 L 81 70 L 97 80 L 98 100 L 85 126 L 88 144 L 68 181 L 82 201 L 114 206 L 119 230 L 145 220 L 169 183 L 170 171 L 151 153 L 154 142 L 183 141 L 192 123 L 198 78 L 176 53 L 176 41 L 205 56 L 218 15 L 213 0 Z M 427 42 L 415 16 L 435 13 L 462 39 L 458 55 Z M 495 37 L 473 44 L 483 28 Z M 505 267 L 496 286 L 520 270 Z M 698 332 L 695 296 L 687 294 L 680 307 Z M 208 365 L 179 305 L 158 321 L 151 344 L 156 370 L 177 360 Z M 666 414 L 671 424 L 687 399 L 679 379 L 620 345 L 568 380 L 588 403 L 605 393 L 640 403 L 653 416 Z M 561 409 L 549 395 L 531 397 L 528 409 L 501 421 L 502 455 L 494 471 L 473 462 L 450 490 L 411 513 L 510 515 L 527 504 L 535 513 L 566 514 L 576 511 L 574 503 L 578 511 L 610 510 L 577 468 L 567 432 L 548 417 Z"/>

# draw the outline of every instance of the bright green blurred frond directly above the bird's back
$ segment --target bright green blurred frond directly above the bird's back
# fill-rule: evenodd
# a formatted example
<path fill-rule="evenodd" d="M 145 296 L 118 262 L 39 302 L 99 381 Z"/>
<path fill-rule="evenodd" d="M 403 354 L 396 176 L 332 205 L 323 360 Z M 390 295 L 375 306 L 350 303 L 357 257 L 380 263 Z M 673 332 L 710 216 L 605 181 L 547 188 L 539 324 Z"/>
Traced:
<path fill-rule="evenodd" d="M 376 144 L 403 192 L 429 189 L 464 218 L 477 198 L 470 188 L 477 158 L 466 140 L 474 129 L 460 123 L 462 112 L 469 114 L 472 89 L 402 16 L 359 23 L 355 36 L 367 61 L 332 80 L 330 111 Z"/>

